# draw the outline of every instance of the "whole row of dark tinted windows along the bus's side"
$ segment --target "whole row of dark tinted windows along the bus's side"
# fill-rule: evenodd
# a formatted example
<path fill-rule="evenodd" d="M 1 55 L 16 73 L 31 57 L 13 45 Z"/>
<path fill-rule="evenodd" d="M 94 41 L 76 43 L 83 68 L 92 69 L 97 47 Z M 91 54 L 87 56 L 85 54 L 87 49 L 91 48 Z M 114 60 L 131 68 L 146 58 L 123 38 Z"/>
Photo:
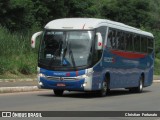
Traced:
<path fill-rule="evenodd" d="M 153 51 L 153 39 L 130 32 L 109 29 L 107 47 L 130 52 L 151 53 Z"/>

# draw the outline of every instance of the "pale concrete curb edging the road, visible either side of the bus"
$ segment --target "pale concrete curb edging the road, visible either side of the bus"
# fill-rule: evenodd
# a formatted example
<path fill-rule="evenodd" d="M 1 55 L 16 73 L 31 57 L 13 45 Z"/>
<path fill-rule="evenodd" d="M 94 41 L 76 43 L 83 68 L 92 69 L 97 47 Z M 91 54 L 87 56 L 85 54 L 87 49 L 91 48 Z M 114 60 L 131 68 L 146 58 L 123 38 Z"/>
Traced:
<path fill-rule="evenodd" d="M 154 80 L 153 83 L 160 83 L 160 80 Z M 0 87 L 0 93 L 29 92 L 39 91 L 37 86 L 20 86 L 20 87 Z"/>

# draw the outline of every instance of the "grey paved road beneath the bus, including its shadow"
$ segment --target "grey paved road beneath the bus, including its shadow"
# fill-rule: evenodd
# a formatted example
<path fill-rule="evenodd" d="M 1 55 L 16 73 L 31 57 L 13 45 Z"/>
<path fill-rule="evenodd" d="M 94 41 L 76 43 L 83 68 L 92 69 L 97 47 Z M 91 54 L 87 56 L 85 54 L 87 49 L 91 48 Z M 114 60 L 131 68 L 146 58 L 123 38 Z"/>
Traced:
<path fill-rule="evenodd" d="M 94 93 L 65 92 L 54 96 L 52 90 L 0 94 L 0 111 L 160 111 L 160 83 L 141 94 L 112 90 L 101 98 Z"/>

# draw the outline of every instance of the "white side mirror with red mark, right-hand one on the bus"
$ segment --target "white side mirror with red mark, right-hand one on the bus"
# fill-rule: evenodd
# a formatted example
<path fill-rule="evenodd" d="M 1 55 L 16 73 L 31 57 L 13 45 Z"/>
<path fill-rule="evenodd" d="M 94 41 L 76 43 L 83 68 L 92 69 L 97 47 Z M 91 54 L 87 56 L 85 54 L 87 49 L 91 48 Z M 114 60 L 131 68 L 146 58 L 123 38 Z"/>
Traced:
<path fill-rule="evenodd" d="M 96 33 L 96 50 L 102 50 L 102 41 L 101 33 Z"/>

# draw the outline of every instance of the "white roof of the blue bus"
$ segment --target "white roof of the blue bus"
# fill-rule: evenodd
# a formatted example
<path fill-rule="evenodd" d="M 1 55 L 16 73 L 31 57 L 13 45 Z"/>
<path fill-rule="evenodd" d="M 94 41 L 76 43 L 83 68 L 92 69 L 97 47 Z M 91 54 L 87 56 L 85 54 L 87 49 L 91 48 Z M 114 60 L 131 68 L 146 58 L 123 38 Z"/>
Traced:
<path fill-rule="evenodd" d="M 129 31 L 137 34 L 153 37 L 152 33 L 125 25 L 120 22 L 115 22 L 107 19 L 97 18 L 63 18 L 52 20 L 45 26 L 46 29 L 70 29 L 70 30 L 90 30 L 100 26 L 108 26 L 124 31 Z"/>

